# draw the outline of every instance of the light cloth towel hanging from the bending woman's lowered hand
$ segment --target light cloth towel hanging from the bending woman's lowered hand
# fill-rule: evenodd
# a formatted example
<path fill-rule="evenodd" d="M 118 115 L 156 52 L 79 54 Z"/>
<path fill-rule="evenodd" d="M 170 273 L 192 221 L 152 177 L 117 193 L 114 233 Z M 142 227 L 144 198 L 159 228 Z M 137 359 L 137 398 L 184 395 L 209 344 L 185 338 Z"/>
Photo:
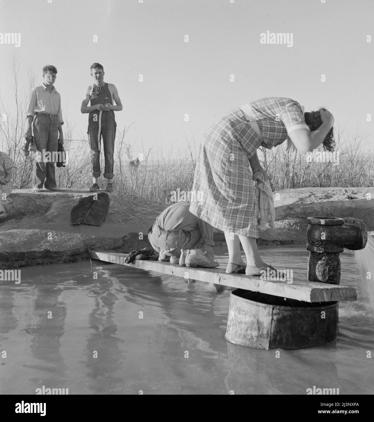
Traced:
<path fill-rule="evenodd" d="M 273 192 L 270 183 L 257 171 L 252 179 L 256 181 L 257 223 L 260 230 L 266 230 L 266 223 L 275 227 Z"/>

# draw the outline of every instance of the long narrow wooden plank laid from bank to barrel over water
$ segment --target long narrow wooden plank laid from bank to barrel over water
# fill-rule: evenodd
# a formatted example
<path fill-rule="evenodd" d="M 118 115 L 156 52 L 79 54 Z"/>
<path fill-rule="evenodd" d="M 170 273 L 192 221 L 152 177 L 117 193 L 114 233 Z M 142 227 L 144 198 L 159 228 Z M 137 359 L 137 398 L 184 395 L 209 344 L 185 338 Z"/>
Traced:
<path fill-rule="evenodd" d="M 146 271 L 157 271 L 209 283 L 238 289 L 252 290 L 282 298 L 302 300 L 304 302 L 332 302 L 337 300 L 357 300 L 356 290 L 353 287 L 336 286 L 335 284 L 317 283 L 315 281 L 293 280 L 265 281 L 260 277 L 246 276 L 245 274 L 226 274 L 222 268 L 190 268 L 173 265 L 170 262 L 134 260 L 126 264 L 128 254 L 115 252 L 90 251 L 89 257 L 95 260 L 111 262 L 112 264 L 126 265 L 132 268 L 141 268 Z M 186 276 L 186 272 L 188 276 Z"/>

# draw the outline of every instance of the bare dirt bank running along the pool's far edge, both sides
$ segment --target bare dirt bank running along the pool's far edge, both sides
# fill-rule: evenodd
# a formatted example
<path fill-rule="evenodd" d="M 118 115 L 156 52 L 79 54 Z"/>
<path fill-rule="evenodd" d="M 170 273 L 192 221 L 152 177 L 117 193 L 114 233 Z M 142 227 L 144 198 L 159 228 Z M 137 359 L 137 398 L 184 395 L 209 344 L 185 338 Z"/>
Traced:
<path fill-rule="evenodd" d="M 109 193 L 111 206 L 101 226 L 70 226 L 70 212 L 87 190 L 14 190 L 0 220 L 0 268 L 87 258 L 91 249 L 129 252 L 150 247 L 147 230 L 167 206 L 144 198 Z M 369 195 L 373 198 L 369 199 Z M 306 243 L 308 216 L 354 217 L 374 231 L 374 188 L 302 188 L 274 192 L 276 228 L 260 232 L 258 244 Z M 141 238 L 143 235 L 143 238 Z M 224 244 L 222 232 L 214 235 Z"/>

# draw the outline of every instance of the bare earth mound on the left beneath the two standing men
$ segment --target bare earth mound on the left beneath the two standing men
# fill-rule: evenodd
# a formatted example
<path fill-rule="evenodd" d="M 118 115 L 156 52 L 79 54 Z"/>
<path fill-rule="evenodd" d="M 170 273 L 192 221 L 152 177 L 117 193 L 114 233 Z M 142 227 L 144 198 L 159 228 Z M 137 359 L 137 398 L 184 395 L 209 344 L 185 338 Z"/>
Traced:
<path fill-rule="evenodd" d="M 165 204 L 111 192 L 108 215 L 100 226 L 71 226 L 72 208 L 90 195 L 68 189 L 13 191 L 12 202 L 5 205 L 8 216 L 0 223 L 0 268 L 72 262 L 87 258 L 94 249 L 130 252 L 151 247 L 147 231 Z"/>

